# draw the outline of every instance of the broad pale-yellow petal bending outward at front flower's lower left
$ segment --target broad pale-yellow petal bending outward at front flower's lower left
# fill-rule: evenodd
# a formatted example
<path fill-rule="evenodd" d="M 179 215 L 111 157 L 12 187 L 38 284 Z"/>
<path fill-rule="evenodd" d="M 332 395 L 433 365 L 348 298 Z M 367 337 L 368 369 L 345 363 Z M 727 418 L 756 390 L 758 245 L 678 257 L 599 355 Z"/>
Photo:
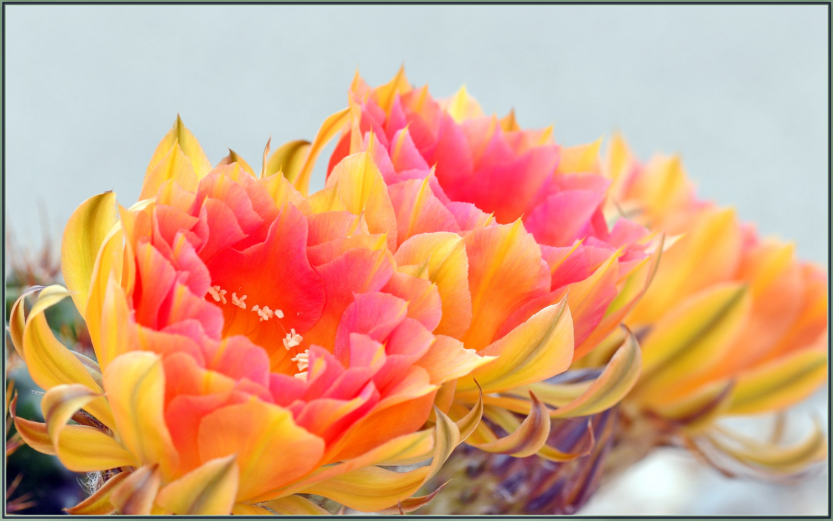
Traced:
<path fill-rule="evenodd" d="M 142 463 L 161 463 L 169 476 L 177 468 L 177 452 L 163 414 L 165 376 L 155 353 L 132 351 L 104 369 L 112 415 L 124 446 Z"/>

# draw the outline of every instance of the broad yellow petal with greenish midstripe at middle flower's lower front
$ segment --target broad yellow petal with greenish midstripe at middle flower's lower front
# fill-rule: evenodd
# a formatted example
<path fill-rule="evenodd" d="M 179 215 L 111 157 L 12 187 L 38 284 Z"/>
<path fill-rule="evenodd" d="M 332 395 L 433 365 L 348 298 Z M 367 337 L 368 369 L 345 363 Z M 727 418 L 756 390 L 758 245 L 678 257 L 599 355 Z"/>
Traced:
<path fill-rule="evenodd" d="M 498 358 L 476 368 L 471 376 L 460 378 L 458 392 L 473 390 L 474 378 L 484 393 L 550 378 L 570 367 L 572 348 L 572 319 L 563 298 L 481 350 L 481 356 Z"/>

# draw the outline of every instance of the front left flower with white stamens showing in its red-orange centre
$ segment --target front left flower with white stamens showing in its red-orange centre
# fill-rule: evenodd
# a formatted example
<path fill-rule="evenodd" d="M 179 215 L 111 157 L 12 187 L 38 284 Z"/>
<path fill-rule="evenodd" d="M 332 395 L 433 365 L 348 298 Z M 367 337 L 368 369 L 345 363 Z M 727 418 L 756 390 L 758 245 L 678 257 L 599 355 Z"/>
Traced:
<path fill-rule="evenodd" d="M 432 333 L 436 286 L 398 270 L 369 233 L 376 207 L 367 219 L 321 210 L 280 171 L 221 163 L 177 118 L 139 203 L 102 193 L 72 214 L 68 291 L 32 288 L 12 308 L 13 343 L 46 389 L 45 423 L 14 418 L 17 432 L 98 473 L 71 513 L 326 513 L 298 493 L 418 508 L 432 494 L 409 496 L 480 418 L 431 413 L 437 391 L 491 358 Z M 348 202 L 363 175 L 342 172 Z M 97 361 L 44 318 L 67 296 Z M 374 466 L 431 457 L 404 473 Z"/>

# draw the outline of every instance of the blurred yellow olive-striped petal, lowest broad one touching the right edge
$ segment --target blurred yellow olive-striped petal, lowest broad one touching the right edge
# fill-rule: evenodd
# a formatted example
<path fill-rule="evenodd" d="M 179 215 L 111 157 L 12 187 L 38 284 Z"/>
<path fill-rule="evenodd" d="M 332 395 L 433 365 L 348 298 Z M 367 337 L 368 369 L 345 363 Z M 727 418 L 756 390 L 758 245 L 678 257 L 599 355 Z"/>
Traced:
<path fill-rule="evenodd" d="M 732 389 L 729 413 L 786 408 L 810 396 L 827 378 L 824 348 L 805 350 L 742 373 Z"/>

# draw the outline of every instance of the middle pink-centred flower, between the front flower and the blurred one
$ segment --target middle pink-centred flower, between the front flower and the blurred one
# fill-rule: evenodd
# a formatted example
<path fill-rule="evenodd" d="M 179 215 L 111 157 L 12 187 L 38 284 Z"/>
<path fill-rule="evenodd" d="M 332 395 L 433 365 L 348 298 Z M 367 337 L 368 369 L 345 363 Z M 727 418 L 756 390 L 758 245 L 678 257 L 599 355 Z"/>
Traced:
<path fill-rule="evenodd" d="M 317 153 L 339 132 L 327 188 L 312 198 L 330 200 L 325 194 L 337 190 L 344 165 L 367 153 L 373 181 L 365 186 L 389 199 L 367 207 L 368 228 L 387 233 L 387 247 L 410 273 L 436 283 L 436 332 L 498 357 L 448 388 L 452 418 L 478 397 L 475 379 L 484 393 L 488 422 L 467 443 L 517 457 L 575 458 L 546 444 L 550 419 L 610 408 L 636 382 L 639 350 L 620 338 L 615 359 L 592 383 L 544 380 L 618 327 L 656 260 L 645 228 L 626 219 L 608 228 L 609 182 L 586 173 L 598 147 L 563 150 L 549 130 L 524 132 L 511 116 L 482 117 L 464 89 L 437 103 L 402 70 L 379 88 L 357 77 L 349 103 L 322 125 L 295 186 L 306 191 Z M 459 258 L 453 275 L 441 268 L 446 252 Z M 536 362 L 506 370 L 519 359 Z M 516 414 L 526 415 L 523 423 Z"/>

